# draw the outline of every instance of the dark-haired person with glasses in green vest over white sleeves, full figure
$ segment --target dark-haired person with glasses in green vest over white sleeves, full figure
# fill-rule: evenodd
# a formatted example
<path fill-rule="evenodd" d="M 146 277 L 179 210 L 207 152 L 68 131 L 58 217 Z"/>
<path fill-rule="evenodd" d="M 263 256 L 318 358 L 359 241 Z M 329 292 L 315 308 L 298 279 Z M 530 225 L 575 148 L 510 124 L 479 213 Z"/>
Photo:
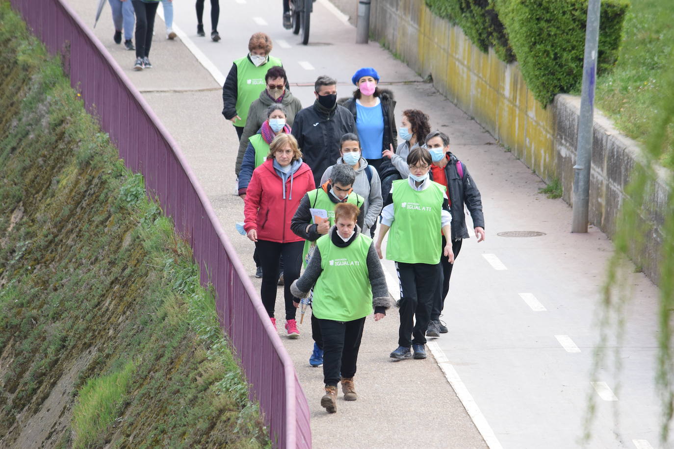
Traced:
<path fill-rule="evenodd" d="M 412 149 L 407 156 L 408 178 L 393 182 L 381 210 L 381 231 L 375 248 L 383 258 L 381 242 L 391 230 L 386 258 L 395 261 L 400 279 L 398 348 L 390 355 L 396 360 L 412 357 L 410 346 L 415 359 L 426 358 L 426 329 L 442 279 L 440 254 L 454 263 L 451 242 L 441 248 L 440 232 L 452 235 L 452 215 L 446 187 L 429 179 L 432 163 L 427 149 Z"/>

